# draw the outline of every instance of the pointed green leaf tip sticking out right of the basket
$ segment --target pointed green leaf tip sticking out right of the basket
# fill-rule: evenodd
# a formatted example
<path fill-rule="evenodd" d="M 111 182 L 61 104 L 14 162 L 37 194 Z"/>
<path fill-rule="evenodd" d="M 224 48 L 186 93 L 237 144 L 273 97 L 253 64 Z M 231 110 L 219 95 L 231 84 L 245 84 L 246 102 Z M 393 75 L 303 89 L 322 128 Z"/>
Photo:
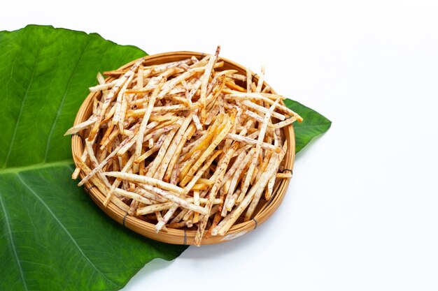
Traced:
<path fill-rule="evenodd" d="M 298 103 L 297 101 L 285 99 L 284 103 L 291 110 L 297 112 L 302 118 L 302 123 L 294 122 L 295 130 L 295 152 L 301 151 L 307 144 L 318 135 L 325 133 L 332 121 L 323 117 L 315 110 Z"/>

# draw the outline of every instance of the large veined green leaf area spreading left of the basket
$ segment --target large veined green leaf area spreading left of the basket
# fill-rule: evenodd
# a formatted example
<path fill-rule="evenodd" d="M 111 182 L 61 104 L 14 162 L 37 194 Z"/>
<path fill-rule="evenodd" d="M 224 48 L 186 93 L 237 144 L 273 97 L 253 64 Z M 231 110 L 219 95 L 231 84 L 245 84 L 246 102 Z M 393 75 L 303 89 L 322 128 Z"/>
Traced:
<path fill-rule="evenodd" d="M 185 250 L 118 225 L 70 178 L 63 134 L 96 73 L 145 54 L 95 33 L 0 31 L 0 290 L 119 290 Z"/>

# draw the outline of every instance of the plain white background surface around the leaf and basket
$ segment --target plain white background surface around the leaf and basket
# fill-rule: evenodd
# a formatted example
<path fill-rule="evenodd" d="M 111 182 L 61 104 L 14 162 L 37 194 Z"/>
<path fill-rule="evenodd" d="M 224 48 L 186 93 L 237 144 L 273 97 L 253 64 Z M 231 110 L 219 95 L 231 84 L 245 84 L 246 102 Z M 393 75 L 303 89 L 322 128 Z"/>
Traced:
<path fill-rule="evenodd" d="M 8 1 L 149 54 L 221 55 L 332 120 L 254 232 L 147 264 L 133 290 L 438 290 L 436 1 Z"/>

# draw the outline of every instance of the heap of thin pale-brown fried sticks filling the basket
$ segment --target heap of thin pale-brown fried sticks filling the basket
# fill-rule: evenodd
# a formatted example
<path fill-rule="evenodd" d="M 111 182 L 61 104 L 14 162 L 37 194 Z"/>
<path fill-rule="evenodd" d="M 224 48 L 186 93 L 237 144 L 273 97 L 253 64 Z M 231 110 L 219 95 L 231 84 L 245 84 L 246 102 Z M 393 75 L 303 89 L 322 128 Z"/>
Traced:
<path fill-rule="evenodd" d="M 239 217 L 248 221 L 276 179 L 291 177 L 278 172 L 288 149 L 283 128 L 302 121 L 264 86 L 264 68 L 256 82 L 250 70 L 221 70 L 219 50 L 154 66 L 142 58 L 104 72 L 106 80 L 99 73 L 90 118 L 66 132 L 86 137 L 73 172 L 85 175 L 79 186 L 90 180 L 105 206 L 157 232 L 197 230 L 198 246 Z"/>

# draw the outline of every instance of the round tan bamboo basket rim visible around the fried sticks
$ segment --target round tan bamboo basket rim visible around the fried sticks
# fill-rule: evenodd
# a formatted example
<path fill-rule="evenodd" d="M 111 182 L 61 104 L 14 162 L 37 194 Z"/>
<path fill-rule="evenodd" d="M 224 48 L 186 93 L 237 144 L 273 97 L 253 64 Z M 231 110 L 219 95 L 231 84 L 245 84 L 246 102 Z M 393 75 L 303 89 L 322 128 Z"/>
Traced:
<path fill-rule="evenodd" d="M 192 56 L 197 57 L 198 59 L 204 57 L 204 53 L 200 52 L 166 52 L 162 54 L 154 54 L 146 57 L 146 61 L 144 64 L 146 66 L 155 65 L 155 64 L 164 64 L 171 61 L 181 61 L 183 59 L 188 59 Z M 224 61 L 223 70 L 238 70 L 239 73 L 246 75 L 246 68 L 236 64 L 234 61 L 230 61 L 228 59 L 224 59 L 220 57 L 222 61 Z M 132 64 L 135 63 L 136 60 L 130 62 L 129 64 L 125 64 L 125 66 L 120 67 L 120 69 L 129 68 Z M 254 77 L 257 80 L 257 75 Z M 111 79 L 109 79 L 111 80 Z M 264 87 L 268 86 L 266 82 L 263 84 Z M 271 89 L 273 93 L 275 91 Z M 101 92 L 94 92 L 87 96 L 81 105 L 78 114 L 76 115 L 76 119 L 74 121 L 74 125 L 80 124 L 90 117 L 92 114 L 92 100 L 96 96 L 100 96 Z M 281 101 L 283 103 L 283 101 Z M 284 103 L 283 103 L 284 105 Z M 295 160 L 295 133 L 293 130 L 293 126 L 285 126 L 282 128 L 285 140 L 288 141 L 289 147 L 288 151 L 283 158 L 283 162 L 281 164 L 281 168 L 292 170 L 293 163 Z M 71 140 L 71 150 L 73 154 L 73 160 L 77 165 L 77 161 L 75 156 L 81 156 L 84 150 L 83 137 L 80 135 L 73 135 Z M 284 171 L 284 170 L 283 170 Z M 83 172 L 80 172 L 80 177 L 83 179 L 85 175 Z M 276 179 L 276 184 L 274 186 L 274 193 L 271 197 L 271 200 L 266 201 L 264 197 L 260 199 L 260 202 L 257 206 L 253 214 L 253 218 L 250 221 L 243 222 L 243 219 L 239 218 L 236 221 L 227 234 L 224 236 L 211 236 L 208 239 L 205 237 L 202 238 L 202 244 L 218 244 L 224 241 L 229 241 L 230 239 L 234 239 L 236 237 L 240 237 L 246 232 L 250 232 L 255 230 L 256 227 L 260 226 L 264 221 L 267 220 L 274 211 L 278 208 L 278 206 L 283 201 L 286 190 L 288 188 L 290 179 Z M 85 191 L 90 195 L 94 203 L 97 204 L 108 216 L 113 218 L 118 223 L 128 227 L 130 230 L 134 230 L 145 237 L 150 239 L 155 239 L 157 241 L 163 241 L 168 244 L 195 244 L 195 234 L 196 230 L 184 230 L 184 229 L 171 229 L 168 228 L 167 232 L 162 230 L 159 233 L 155 232 L 155 225 L 152 223 L 148 223 L 143 221 L 142 219 L 136 218 L 134 216 L 128 216 L 125 211 L 118 208 L 110 202 L 107 207 L 104 207 L 104 200 L 106 195 L 101 193 L 97 187 L 94 187 L 91 181 L 87 181 L 84 184 Z"/>

